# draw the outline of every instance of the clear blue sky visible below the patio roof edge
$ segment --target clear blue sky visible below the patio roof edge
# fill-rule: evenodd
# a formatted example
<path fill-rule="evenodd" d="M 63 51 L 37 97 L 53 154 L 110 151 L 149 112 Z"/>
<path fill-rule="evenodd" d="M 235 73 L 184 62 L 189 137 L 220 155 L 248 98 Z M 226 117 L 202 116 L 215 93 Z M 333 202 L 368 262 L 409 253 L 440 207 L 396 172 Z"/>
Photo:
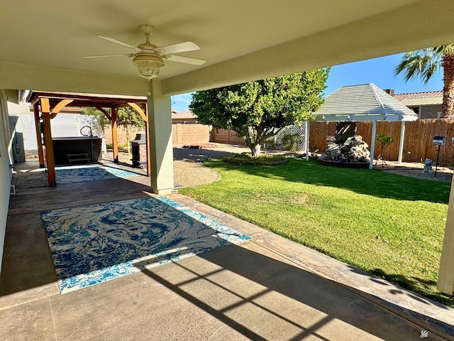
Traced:
<path fill-rule="evenodd" d="M 435 91 L 443 89 L 443 75 L 438 72 L 427 85 L 419 79 L 404 82 L 402 75 L 394 76 L 394 68 L 403 54 L 388 55 L 386 57 L 362 60 L 331 67 L 326 82 L 325 96 L 345 85 L 375 83 L 382 89 L 394 89 L 397 94 L 404 92 Z M 179 94 L 172 97 L 172 109 L 181 112 L 187 109 L 191 102 L 191 94 Z"/>

